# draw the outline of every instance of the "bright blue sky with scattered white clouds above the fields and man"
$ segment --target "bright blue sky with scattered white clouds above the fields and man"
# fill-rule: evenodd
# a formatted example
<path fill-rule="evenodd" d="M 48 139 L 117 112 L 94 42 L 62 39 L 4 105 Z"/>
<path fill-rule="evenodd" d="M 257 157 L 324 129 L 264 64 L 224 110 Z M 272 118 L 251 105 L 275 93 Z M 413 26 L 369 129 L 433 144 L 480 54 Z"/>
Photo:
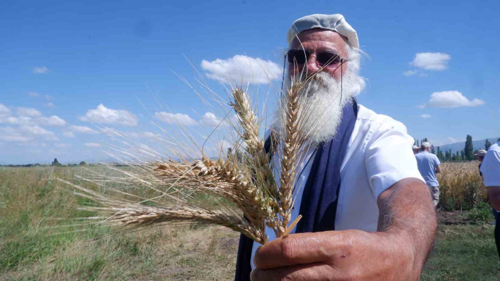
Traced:
<path fill-rule="evenodd" d="M 0 163 L 102 158 L 102 121 L 144 141 L 163 133 L 151 120 L 171 132 L 176 120 L 209 133 L 224 111 L 207 108 L 178 76 L 204 97 L 196 78 L 223 94 L 224 67 L 252 62 L 275 77 L 257 83 L 254 70 L 245 77 L 253 90 L 275 91 L 286 30 L 311 13 L 342 13 L 356 29 L 368 54 L 359 103 L 434 144 L 497 137 L 499 8 L 496 1 L 1 1 Z"/>

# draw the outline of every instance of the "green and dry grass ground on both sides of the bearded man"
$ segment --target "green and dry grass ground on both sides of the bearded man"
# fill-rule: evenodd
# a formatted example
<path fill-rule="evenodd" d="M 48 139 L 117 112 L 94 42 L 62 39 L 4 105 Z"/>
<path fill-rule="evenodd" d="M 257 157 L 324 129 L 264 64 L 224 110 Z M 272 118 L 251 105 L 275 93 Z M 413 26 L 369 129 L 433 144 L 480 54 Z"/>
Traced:
<path fill-rule="evenodd" d="M 0 279 L 233 278 L 239 235 L 223 227 L 160 226 L 114 233 L 104 227 L 75 226 L 76 220 L 53 219 L 92 214 L 75 210 L 73 205 L 85 200 L 73 195 L 72 187 L 53 179 L 70 179 L 82 172 L 79 167 L 0 168 Z M 467 193 L 452 192 L 447 195 L 455 201 Z M 493 226 L 487 224 L 492 215 L 487 204 L 476 206 L 440 215 L 437 244 L 422 280 L 499 279 Z"/>

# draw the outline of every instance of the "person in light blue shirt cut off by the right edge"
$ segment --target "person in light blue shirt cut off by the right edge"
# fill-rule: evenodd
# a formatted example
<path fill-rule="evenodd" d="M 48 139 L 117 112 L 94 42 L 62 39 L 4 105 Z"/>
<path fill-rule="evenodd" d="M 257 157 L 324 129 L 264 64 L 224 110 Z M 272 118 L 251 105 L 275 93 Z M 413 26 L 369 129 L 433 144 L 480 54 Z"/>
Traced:
<path fill-rule="evenodd" d="M 494 209 L 500 209 L 500 141 L 489 146 L 481 162 L 480 171 L 484 186 L 488 189 L 489 203 Z M 500 226 L 498 217 L 495 221 L 495 244 L 500 257 Z"/>

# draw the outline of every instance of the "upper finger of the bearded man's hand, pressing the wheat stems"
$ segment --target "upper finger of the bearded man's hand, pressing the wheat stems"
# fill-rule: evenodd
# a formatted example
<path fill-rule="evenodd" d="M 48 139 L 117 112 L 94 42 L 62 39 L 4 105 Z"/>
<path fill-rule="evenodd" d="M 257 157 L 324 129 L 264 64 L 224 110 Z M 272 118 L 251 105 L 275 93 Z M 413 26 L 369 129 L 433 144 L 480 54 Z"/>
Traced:
<path fill-rule="evenodd" d="M 343 231 L 297 233 L 270 241 L 255 252 L 253 263 L 258 268 L 325 261 L 335 255 L 347 255 Z"/>

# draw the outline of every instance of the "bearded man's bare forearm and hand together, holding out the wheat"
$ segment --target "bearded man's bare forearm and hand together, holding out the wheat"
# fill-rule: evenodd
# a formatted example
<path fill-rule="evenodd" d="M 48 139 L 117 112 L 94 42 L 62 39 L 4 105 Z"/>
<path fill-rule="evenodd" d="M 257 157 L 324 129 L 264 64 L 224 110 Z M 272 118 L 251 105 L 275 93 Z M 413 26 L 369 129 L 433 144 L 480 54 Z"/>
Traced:
<path fill-rule="evenodd" d="M 437 227 L 430 191 L 405 178 L 377 198 L 377 232 L 297 233 L 255 252 L 255 280 L 418 280 Z"/>

